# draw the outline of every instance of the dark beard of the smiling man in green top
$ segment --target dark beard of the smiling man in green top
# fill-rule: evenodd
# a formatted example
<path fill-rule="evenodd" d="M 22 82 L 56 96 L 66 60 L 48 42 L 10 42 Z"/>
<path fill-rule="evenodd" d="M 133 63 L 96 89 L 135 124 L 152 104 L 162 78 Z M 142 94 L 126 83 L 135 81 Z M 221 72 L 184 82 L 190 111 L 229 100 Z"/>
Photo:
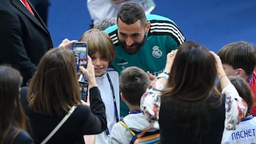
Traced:
<path fill-rule="evenodd" d="M 124 51 L 127 52 L 129 55 L 134 55 L 135 53 L 137 53 L 142 48 L 145 42 L 146 42 L 146 35 L 144 35 L 144 38 L 141 43 L 133 43 L 131 45 L 131 46 L 135 46 L 135 48 L 127 48 L 127 44 L 125 43 L 125 41 L 119 40 L 119 44 L 122 46 Z"/>

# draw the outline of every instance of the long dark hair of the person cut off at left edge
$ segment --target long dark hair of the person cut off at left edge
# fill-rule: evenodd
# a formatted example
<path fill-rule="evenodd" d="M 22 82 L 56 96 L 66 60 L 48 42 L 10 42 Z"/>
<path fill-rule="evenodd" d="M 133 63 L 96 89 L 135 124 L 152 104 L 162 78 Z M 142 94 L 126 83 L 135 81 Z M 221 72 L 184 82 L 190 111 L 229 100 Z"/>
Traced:
<path fill-rule="evenodd" d="M 26 116 L 19 98 L 21 83 L 18 70 L 0 66 L 0 143 L 6 143 L 9 138 L 14 142 L 19 131 L 26 130 Z"/>

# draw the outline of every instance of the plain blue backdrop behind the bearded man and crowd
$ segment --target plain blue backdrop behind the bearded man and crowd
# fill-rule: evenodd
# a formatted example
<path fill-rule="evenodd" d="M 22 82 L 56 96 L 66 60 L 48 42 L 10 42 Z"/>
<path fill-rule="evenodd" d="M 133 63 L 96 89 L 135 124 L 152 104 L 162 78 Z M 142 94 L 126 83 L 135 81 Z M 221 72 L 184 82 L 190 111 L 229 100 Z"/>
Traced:
<path fill-rule="evenodd" d="M 185 35 L 209 50 L 245 40 L 256 43 L 255 0 L 154 0 L 151 13 L 171 18 Z M 80 38 L 88 30 L 86 0 L 51 0 L 48 28 L 57 47 L 64 38 Z M 101 6 L 99 6 L 100 9 Z"/>

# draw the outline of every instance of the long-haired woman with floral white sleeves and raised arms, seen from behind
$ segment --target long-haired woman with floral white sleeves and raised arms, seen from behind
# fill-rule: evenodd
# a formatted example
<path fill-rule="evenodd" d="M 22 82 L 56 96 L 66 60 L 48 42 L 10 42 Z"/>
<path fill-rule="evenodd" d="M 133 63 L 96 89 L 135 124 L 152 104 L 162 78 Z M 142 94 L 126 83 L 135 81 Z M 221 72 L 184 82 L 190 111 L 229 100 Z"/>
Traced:
<path fill-rule="evenodd" d="M 149 121 L 159 120 L 160 143 L 220 143 L 224 128 L 235 129 L 247 111 L 220 57 L 193 41 L 166 57 L 164 72 L 146 90 L 141 106 Z"/>

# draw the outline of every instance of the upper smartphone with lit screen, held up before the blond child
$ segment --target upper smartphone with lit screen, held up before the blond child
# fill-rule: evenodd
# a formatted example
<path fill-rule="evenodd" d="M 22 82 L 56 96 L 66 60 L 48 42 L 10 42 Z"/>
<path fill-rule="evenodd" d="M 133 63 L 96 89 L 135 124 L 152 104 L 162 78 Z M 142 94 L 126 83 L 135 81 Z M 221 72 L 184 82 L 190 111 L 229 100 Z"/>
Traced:
<path fill-rule="evenodd" d="M 75 67 L 80 72 L 79 67 L 87 67 L 87 43 L 86 42 L 78 42 L 73 43 L 72 50 L 74 51 L 75 57 Z"/>

